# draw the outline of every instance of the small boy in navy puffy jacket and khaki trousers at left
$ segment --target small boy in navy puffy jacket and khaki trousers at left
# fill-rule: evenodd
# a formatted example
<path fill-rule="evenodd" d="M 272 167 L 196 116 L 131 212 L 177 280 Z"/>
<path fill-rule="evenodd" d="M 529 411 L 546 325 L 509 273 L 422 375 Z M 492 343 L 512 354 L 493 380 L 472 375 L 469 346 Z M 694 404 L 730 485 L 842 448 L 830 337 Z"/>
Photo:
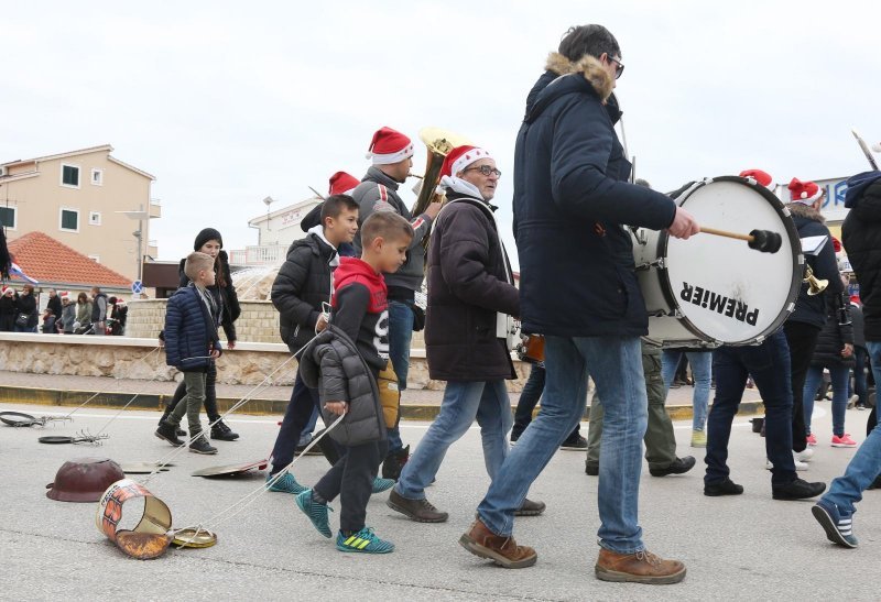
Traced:
<path fill-rule="evenodd" d="M 186 413 L 189 423 L 189 451 L 217 453 L 202 435 L 199 412 L 205 401 L 205 380 L 213 359 L 220 357 L 220 338 L 217 336 L 219 310 L 206 286 L 215 282 L 214 259 L 205 253 L 191 253 L 184 272 L 189 285 L 178 288 L 168 299 L 165 311 L 165 363 L 184 373 L 186 396 L 171 415 L 160 423 L 156 437 L 173 446 L 183 446 L 176 430 Z"/>

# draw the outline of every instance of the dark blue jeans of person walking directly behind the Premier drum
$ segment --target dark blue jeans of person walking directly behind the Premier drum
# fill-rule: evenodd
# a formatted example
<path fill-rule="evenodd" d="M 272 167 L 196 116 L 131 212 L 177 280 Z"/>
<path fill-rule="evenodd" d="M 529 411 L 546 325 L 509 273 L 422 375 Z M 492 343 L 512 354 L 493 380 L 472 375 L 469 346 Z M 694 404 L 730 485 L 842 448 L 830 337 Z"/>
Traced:
<path fill-rule="evenodd" d="M 757 347 L 720 347 L 713 352 L 716 398 L 707 419 L 707 473 L 704 482 L 728 478 L 728 440 L 747 376 L 751 375 L 764 402 L 765 452 L 774 464 L 771 483 L 795 480 L 792 458 L 792 386 L 790 348 L 782 331 Z"/>

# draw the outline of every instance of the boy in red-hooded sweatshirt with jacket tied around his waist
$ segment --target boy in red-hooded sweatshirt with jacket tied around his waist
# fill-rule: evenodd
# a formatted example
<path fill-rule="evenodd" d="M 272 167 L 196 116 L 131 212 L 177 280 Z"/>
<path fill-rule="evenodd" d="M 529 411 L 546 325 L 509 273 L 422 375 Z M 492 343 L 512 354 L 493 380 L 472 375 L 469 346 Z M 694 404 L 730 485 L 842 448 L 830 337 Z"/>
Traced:
<path fill-rule="evenodd" d="M 361 259 L 340 260 L 334 274 L 330 335 L 341 331 L 345 336 L 340 340 L 347 348 L 354 343 L 355 349 L 345 358 L 331 352 L 319 353 L 319 394 L 326 411 L 325 420 L 347 414 L 349 402 L 356 397 L 358 403 L 373 404 L 373 407 L 378 405 L 373 396 L 379 395 L 376 381 L 380 371 L 387 369 L 389 355 L 388 289 L 382 273 L 395 272 L 404 263 L 412 239 L 413 229 L 404 218 L 391 211 L 374 212 L 361 227 Z M 317 341 L 313 344 L 317 346 Z M 327 346 L 318 346 L 316 350 L 322 347 Z M 366 379 L 355 376 L 349 380 L 347 376 L 352 374 L 348 370 L 352 357 L 363 362 L 373 381 L 370 383 L 373 394 L 366 398 L 361 395 Z M 352 406 L 351 409 L 354 415 L 361 415 L 359 406 Z M 388 450 L 387 431 L 377 424 L 382 416 L 376 416 L 374 413 L 373 418 L 373 428 L 368 436 L 361 437 L 361 440 L 368 439 L 367 442 L 344 446 L 344 453 L 336 464 L 313 489 L 296 496 L 300 510 L 325 537 L 331 536 L 327 503 L 340 496 L 342 507 L 336 539 L 340 551 L 387 554 L 394 549 L 392 543 L 380 539 L 372 528 L 365 525 L 372 482 Z M 330 435 L 337 434 L 330 431 Z"/>

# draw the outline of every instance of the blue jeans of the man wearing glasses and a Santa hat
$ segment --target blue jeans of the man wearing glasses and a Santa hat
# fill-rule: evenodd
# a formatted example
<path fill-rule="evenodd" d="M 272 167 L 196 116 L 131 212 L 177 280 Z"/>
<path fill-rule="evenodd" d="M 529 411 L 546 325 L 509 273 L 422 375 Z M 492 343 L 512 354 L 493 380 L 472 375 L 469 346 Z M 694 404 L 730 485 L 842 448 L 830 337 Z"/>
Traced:
<path fill-rule="evenodd" d="M 424 500 L 425 488 L 434 480 L 447 449 L 465 435 L 477 418 L 483 442 L 483 463 L 494 479 L 508 456 L 508 431 L 511 430 L 511 399 L 504 381 L 448 382 L 440 402 L 440 413 L 420 441 L 395 490 L 409 500 Z"/>

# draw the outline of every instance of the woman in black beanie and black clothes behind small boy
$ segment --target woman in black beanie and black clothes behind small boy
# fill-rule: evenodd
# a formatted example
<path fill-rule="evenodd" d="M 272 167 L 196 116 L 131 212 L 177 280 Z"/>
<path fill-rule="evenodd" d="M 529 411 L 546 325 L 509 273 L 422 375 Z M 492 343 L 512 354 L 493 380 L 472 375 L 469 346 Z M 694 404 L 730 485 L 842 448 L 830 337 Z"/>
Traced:
<path fill-rule="evenodd" d="M 196 240 L 193 244 L 193 249 L 195 251 L 199 251 L 202 253 L 211 255 L 215 258 L 214 271 L 216 274 L 216 281 L 214 286 L 207 287 L 208 293 L 214 298 L 217 306 L 220 308 L 220 325 L 224 328 L 224 332 L 227 337 L 227 349 L 235 349 L 236 348 L 236 320 L 239 318 L 241 314 L 241 308 L 239 306 L 239 297 L 236 294 L 236 287 L 232 286 L 232 277 L 229 271 L 229 259 L 227 256 L 226 251 L 222 251 L 224 247 L 224 239 L 220 236 L 220 232 L 215 230 L 214 228 L 205 228 L 202 232 L 196 236 Z M 181 286 L 187 286 L 189 284 L 189 278 L 186 277 L 184 274 L 184 263 L 186 262 L 185 259 L 181 260 L 180 266 L 180 275 L 181 275 Z M 208 376 L 205 382 L 205 413 L 208 415 L 208 420 L 210 423 L 216 423 L 211 427 L 211 439 L 217 439 L 221 441 L 235 441 L 239 438 L 237 433 L 233 433 L 222 420 L 219 420 L 220 413 L 217 411 L 217 392 L 215 388 L 215 382 L 217 381 L 217 365 L 215 361 L 211 360 L 210 364 L 208 365 Z M 177 385 L 177 390 L 174 392 L 174 398 L 165 408 L 165 413 L 162 415 L 162 419 L 164 419 L 177 403 L 186 395 L 186 386 L 183 382 Z M 219 420 L 219 422 L 218 422 Z M 160 420 L 161 422 L 161 420 Z"/>

